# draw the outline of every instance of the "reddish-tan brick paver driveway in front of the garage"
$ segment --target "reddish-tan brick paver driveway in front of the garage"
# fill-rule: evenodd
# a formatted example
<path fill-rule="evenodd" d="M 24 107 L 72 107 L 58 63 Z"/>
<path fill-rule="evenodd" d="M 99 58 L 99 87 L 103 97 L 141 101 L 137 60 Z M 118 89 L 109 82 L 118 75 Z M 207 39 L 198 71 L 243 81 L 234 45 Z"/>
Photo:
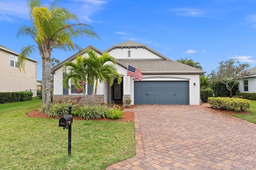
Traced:
<path fill-rule="evenodd" d="M 206 106 L 136 105 L 136 156 L 106 169 L 256 169 L 256 125 Z"/>

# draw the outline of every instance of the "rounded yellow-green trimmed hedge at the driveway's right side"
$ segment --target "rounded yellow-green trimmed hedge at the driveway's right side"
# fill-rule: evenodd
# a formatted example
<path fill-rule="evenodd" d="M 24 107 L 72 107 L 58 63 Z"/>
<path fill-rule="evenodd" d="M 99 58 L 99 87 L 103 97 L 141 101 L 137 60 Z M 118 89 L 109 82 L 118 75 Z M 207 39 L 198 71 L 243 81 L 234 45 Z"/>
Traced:
<path fill-rule="evenodd" d="M 240 112 L 250 108 L 250 100 L 240 98 L 208 98 L 209 104 L 216 109 Z"/>

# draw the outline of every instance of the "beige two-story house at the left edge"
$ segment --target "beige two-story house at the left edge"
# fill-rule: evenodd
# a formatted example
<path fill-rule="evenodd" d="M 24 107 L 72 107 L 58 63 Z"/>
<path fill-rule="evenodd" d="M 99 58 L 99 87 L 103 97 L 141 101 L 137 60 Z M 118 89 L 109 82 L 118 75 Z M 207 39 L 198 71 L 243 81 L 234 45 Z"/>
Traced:
<path fill-rule="evenodd" d="M 0 45 L 0 92 L 36 90 L 36 64 L 28 59 L 25 72 L 18 69 L 18 53 Z"/>

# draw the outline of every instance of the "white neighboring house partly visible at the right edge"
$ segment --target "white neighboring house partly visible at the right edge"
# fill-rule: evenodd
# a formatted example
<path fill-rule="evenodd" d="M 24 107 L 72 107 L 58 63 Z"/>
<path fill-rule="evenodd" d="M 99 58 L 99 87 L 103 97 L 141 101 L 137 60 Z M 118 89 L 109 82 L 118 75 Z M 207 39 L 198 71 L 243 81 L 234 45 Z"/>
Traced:
<path fill-rule="evenodd" d="M 256 93 L 256 66 L 247 70 L 249 75 L 239 81 L 238 88 L 240 92 Z"/>

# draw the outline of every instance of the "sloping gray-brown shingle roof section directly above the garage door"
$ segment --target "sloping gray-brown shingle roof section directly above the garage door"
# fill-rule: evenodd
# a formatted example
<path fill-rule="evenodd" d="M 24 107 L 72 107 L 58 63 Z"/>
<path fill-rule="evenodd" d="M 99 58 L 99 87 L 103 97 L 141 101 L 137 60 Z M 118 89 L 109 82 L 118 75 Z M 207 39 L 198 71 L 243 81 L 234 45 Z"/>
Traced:
<path fill-rule="evenodd" d="M 130 65 L 137 68 L 144 74 L 203 74 L 204 70 L 188 66 L 186 64 L 178 63 L 176 61 L 166 61 L 159 59 L 143 59 L 143 60 L 123 60 L 118 59 L 120 64 L 127 66 Z"/>

